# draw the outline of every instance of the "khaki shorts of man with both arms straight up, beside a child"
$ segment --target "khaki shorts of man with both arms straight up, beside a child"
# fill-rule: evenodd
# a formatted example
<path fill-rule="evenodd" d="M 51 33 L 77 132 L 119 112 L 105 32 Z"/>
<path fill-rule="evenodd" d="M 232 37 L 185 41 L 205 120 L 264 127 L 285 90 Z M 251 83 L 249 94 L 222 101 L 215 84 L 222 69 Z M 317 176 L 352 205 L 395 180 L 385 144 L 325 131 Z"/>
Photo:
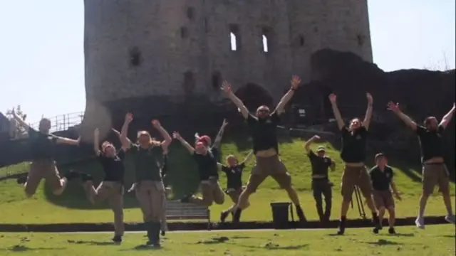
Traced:
<path fill-rule="evenodd" d="M 372 184 L 366 166 L 345 166 L 343 169 L 341 186 L 343 200 L 351 201 L 355 186 L 358 186 L 365 198 L 371 196 Z"/>

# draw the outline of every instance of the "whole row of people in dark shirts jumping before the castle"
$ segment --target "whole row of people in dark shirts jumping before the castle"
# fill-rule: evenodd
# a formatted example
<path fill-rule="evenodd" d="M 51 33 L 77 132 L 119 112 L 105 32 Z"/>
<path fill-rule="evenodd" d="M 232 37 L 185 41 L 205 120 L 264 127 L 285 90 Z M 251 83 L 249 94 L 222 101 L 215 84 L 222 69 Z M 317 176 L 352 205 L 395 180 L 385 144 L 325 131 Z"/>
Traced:
<path fill-rule="evenodd" d="M 279 158 L 279 143 L 276 134 L 280 115 L 284 113 L 285 105 L 291 100 L 300 83 L 301 79 L 296 75 L 293 76 L 289 91 L 281 98 L 275 110 L 271 111 L 269 107 L 262 105 L 257 108 L 255 114 L 251 114 L 242 100 L 234 95 L 231 85 L 228 82 L 223 82 L 222 91 L 234 102 L 242 117 L 247 120 L 249 133 L 253 139 L 253 150 L 243 161 L 238 161 L 236 156 L 229 155 L 227 156 L 226 164 L 219 163 L 218 147 L 222 140 L 224 127 L 227 125 L 226 121 L 222 124 L 222 128 L 213 143 L 210 137 L 195 134 L 195 143 L 190 144 L 180 136 L 179 132 L 174 132 L 172 137 L 180 141 L 192 155 L 192 158 L 195 159 L 199 171 L 199 187 L 202 192 L 201 198 L 194 195 L 187 195 L 181 199 L 182 203 L 190 202 L 203 206 L 211 206 L 212 203 L 222 204 L 224 203 L 224 194 L 227 193 L 234 204 L 227 210 L 222 211 L 220 220 L 222 222 L 225 221 L 228 215 L 231 214 L 233 223 L 238 223 L 242 210 L 249 207 L 249 196 L 257 191 L 257 188 L 265 178 L 271 176 L 288 193 L 289 198 L 294 203 L 299 220 L 301 222 L 306 221 L 304 210 L 299 202 L 299 196 L 291 185 L 291 176 Z M 366 169 L 366 142 L 373 110 L 373 97 L 370 94 L 367 94 L 366 97 L 368 100 L 366 116 L 362 121 L 358 118 L 351 119 L 347 126 L 338 110 L 336 95 L 331 94 L 329 96 L 343 144 L 341 149 L 341 159 L 344 162 L 341 183 L 343 201 L 341 203 L 340 220 L 337 230 L 338 235 L 345 233 L 346 214 L 356 186 L 360 188 L 361 193 L 366 198 L 366 204 L 372 212 L 374 232 L 378 233 L 382 228 L 383 215 L 385 214 L 385 210 L 388 210 L 390 214 L 389 233 L 395 233 L 393 228 L 393 194 L 397 198 L 400 198 L 400 195 L 395 188 L 393 171 L 388 166 L 386 156 L 377 154 L 375 156 L 376 165 L 371 171 Z M 424 228 L 423 215 L 427 198 L 437 184 L 440 186 L 440 191 L 442 192 L 447 208 L 445 219 L 450 223 L 455 223 L 455 215 L 452 213 L 450 201 L 449 173 L 444 164 L 442 151 L 442 131 L 452 119 L 455 106 L 453 105 L 450 112 L 442 118 L 440 124 L 435 117 L 427 117 L 424 126 L 416 124 L 410 117 L 403 114 L 398 104 L 389 102 L 388 109 L 397 114 L 400 119 L 415 130 L 420 139 L 423 156 L 423 193 L 420 197 L 420 210 L 418 218 L 415 221 L 416 225 L 419 228 Z M 35 193 L 41 178 L 46 178 L 51 184 L 54 193 L 59 195 L 63 192 L 69 180 L 80 177 L 90 202 L 97 203 L 105 199 L 110 202 L 115 216 L 115 236 L 113 238 L 115 242 L 121 242 L 124 233 L 123 176 L 125 166 L 123 161 L 125 159 L 125 152 L 130 151 L 133 155 L 135 183 L 129 191 L 134 191 L 136 198 L 138 198 L 147 230 L 147 245 L 160 246 L 160 230 L 162 235 L 167 230 L 165 215 L 167 188 L 163 183 L 163 177 L 167 170 L 168 146 L 172 142 L 172 137 L 161 126 L 160 122 L 153 120 L 152 126 L 160 132 L 160 136 L 163 138 L 162 141 L 153 139 L 147 131 L 140 131 L 137 134 L 137 142 L 133 143 L 127 137 L 128 126 L 133 120 L 133 114 L 127 114 L 121 131 L 117 132 L 114 130 L 122 143 L 119 150 L 115 149 L 115 146 L 110 142 L 103 142 L 99 145 L 99 132 L 98 129 L 95 129 L 94 151 L 105 171 L 105 178 L 103 178 L 98 188 L 95 188 L 93 186 L 93 178 L 88 174 L 68 171 L 61 176 L 56 169 L 56 163 L 53 159 L 53 145 L 78 145 L 79 139 L 67 139 L 49 134 L 51 122 L 48 119 L 42 119 L 38 131 L 34 131 L 16 114 L 14 114 L 14 118 L 28 129 L 28 133 L 32 139 L 31 149 L 33 161 L 30 171 L 28 172 L 28 176 L 18 178 L 18 183 L 25 184 L 26 195 L 32 196 Z M 310 149 L 311 143 L 316 141 L 316 139 L 319 139 L 319 137 L 312 137 L 306 142 L 304 148 L 312 165 L 312 188 L 314 190 L 318 215 L 321 221 L 326 222 L 331 215 L 332 198 L 332 183 L 328 178 L 328 169 L 333 170 L 336 166 L 325 155 L 325 149 L 323 147 L 318 147 L 316 153 Z M 245 163 L 252 156 L 255 156 L 254 168 L 249 176 L 249 181 L 247 181 L 247 186 L 243 186 L 242 171 Z M 220 169 L 227 176 L 226 190 L 223 190 L 219 185 Z M 393 193 L 390 192 L 390 188 L 393 189 Z M 322 195 L 326 201 L 324 211 L 322 207 Z"/>

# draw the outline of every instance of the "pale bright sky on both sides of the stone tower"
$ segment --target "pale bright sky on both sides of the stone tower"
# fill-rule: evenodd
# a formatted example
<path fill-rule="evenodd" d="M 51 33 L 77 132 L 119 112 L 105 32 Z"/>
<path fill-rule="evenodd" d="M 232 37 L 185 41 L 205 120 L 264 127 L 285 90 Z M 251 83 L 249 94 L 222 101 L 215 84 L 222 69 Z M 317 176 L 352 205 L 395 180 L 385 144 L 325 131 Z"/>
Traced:
<path fill-rule="evenodd" d="M 385 71 L 455 68 L 454 0 L 369 0 L 374 62 Z M 0 112 L 29 122 L 86 106 L 82 0 L 0 1 Z"/>

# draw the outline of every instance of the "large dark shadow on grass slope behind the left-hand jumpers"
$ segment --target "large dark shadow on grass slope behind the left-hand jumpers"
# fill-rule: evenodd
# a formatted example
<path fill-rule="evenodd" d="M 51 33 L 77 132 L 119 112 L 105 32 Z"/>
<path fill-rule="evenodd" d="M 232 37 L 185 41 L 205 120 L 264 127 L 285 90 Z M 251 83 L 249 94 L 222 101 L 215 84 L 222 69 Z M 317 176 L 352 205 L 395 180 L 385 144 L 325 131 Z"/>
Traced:
<path fill-rule="evenodd" d="M 198 171 L 192 156 L 179 142 L 173 142 L 170 146 L 169 167 L 165 182 L 167 186 L 172 187 L 170 199 L 182 198 L 187 193 L 195 193 L 199 186 Z M 130 154 L 125 159 L 125 191 L 128 191 L 134 182 L 133 161 Z M 96 159 L 81 161 L 76 164 L 58 166 L 61 174 L 72 169 L 91 174 L 94 177 L 95 185 L 102 181 L 104 177 L 103 169 Z M 81 181 L 75 180 L 68 182 L 66 190 L 61 196 L 55 196 L 52 193 L 51 186 L 44 186 L 46 199 L 55 205 L 66 208 L 76 209 L 110 209 L 108 201 L 101 202 L 98 205 L 89 203 L 86 193 L 83 190 Z M 137 208 L 138 201 L 135 193 L 125 193 L 124 208 Z"/>

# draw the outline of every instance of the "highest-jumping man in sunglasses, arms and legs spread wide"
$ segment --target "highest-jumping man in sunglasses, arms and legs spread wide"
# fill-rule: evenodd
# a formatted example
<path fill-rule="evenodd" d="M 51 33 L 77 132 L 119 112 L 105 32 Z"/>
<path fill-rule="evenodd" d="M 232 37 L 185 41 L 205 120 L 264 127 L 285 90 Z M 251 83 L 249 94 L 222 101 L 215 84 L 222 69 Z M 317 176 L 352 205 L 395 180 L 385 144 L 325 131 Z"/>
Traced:
<path fill-rule="evenodd" d="M 222 90 L 225 92 L 232 102 L 238 107 L 242 116 L 247 119 L 249 132 L 253 139 L 253 150 L 257 159 L 257 163 L 252 170 L 252 175 L 249 177 L 247 187 L 242 191 L 234 212 L 233 222 L 239 222 L 242 209 L 246 208 L 249 196 L 257 191 L 258 186 L 271 176 L 276 180 L 281 188 L 285 189 L 289 198 L 296 206 L 296 213 L 299 220 L 306 221 L 304 211 L 299 203 L 298 193 L 291 186 L 291 176 L 286 170 L 286 167 L 279 159 L 279 142 L 277 141 L 276 127 L 279 124 L 279 115 L 284 113 L 284 107 L 287 102 L 293 97 L 294 91 L 299 87 L 301 79 L 294 75 L 291 78 L 291 88 L 284 97 L 281 98 L 274 112 L 270 112 L 269 107 L 263 105 L 258 107 L 257 116 L 253 116 L 247 110 L 242 100 L 239 100 L 232 92 L 232 87 L 228 82 L 223 82 Z"/>

